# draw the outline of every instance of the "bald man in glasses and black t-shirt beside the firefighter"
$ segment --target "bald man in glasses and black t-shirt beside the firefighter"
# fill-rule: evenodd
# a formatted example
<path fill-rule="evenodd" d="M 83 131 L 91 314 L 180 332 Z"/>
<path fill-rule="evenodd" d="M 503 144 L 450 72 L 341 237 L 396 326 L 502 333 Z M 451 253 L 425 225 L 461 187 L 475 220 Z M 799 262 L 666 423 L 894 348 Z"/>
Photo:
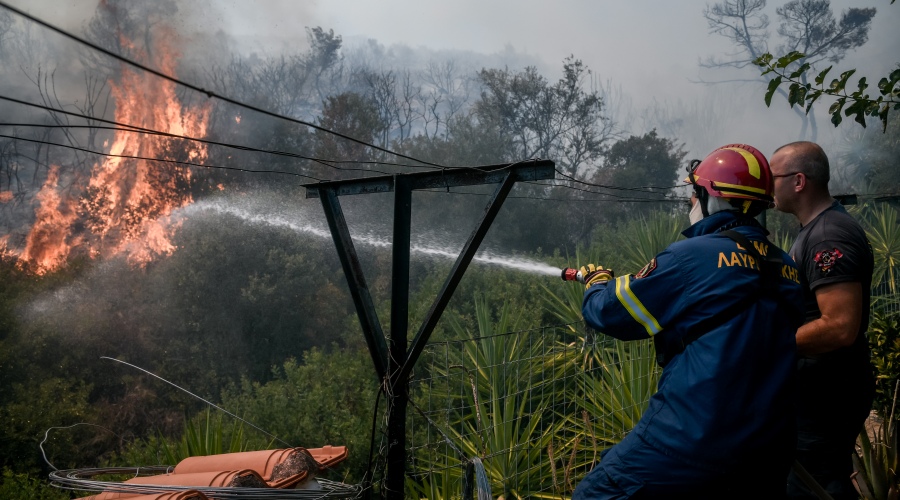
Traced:
<path fill-rule="evenodd" d="M 835 498 L 858 495 L 851 453 L 875 394 L 866 330 L 873 256 L 866 233 L 828 191 L 828 157 L 812 142 L 770 159 L 775 208 L 801 229 L 790 255 L 800 269 L 806 322 L 797 330 L 797 461 Z M 789 498 L 818 498 L 794 474 Z"/>

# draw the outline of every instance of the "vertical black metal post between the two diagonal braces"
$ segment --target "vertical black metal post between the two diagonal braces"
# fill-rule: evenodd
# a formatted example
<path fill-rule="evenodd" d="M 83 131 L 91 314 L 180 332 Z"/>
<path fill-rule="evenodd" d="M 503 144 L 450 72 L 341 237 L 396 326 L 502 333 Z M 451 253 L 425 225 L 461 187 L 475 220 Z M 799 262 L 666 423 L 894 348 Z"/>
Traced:
<path fill-rule="evenodd" d="M 394 239 L 391 243 L 391 342 L 388 360 L 388 452 L 385 497 L 402 499 L 406 482 L 406 406 L 409 381 L 399 377 L 406 360 L 409 330 L 409 254 L 412 221 L 412 188 L 398 176 L 394 183 Z"/>

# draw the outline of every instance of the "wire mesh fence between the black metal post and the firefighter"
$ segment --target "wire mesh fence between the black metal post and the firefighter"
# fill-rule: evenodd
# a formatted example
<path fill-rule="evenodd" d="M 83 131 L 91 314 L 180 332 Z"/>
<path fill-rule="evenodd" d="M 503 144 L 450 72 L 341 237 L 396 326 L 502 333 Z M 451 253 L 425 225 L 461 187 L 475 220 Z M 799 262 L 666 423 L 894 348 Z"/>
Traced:
<path fill-rule="evenodd" d="M 649 342 L 582 324 L 430 344 L 411 385 L 408 486 L 458 497 L 478 458 L 495 498 L 568 496 L 640 419 L 658 375 Z"/>

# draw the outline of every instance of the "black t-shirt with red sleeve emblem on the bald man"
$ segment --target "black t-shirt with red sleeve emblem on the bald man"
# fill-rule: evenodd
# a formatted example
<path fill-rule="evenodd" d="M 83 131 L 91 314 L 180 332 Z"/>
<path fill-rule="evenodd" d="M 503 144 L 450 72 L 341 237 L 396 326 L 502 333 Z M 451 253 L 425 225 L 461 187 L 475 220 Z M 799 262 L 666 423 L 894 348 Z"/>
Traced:
<path fill-rule="evenodd" d="M 855 359 L 868 365 L 869 346 L 866 331 L 869 328 L 874 257 L 872 246 L 862 226 L 835 201 L 800 230 L 790 254 L 800 268 L 807 323 L 822 315 L 816 302 L 817 288 L 845 282 L 862 285 L 862 321 L 856 342 L 852 346 L 812 358 L 834 362 L 840 359 Z"/>

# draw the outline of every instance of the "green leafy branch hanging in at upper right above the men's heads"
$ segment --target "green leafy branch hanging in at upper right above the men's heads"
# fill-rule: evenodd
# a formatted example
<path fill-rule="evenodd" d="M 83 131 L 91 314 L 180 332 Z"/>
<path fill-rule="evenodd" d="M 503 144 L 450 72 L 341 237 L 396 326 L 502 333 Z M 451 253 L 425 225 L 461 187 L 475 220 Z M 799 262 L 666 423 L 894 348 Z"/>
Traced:
<path fill-rule="evenodd" d="M 854 120 L 866 126 L 866 117 L 877 116 L 884 130 L 887 130 L 887 118 L 891 109 L 894 111 L 900 109 L 900 68 L 895 69 L 887 77 L 878 81 L 878 91 L 881 95 L 871 97 L 866 93 L 869 84 L 866 77 L 862 77 L 857 82 L 856 90 L 849 92 L 847 84 L 850 77 L 856 73 L 855 69 L 847 70 L 838 78 L 834 78 L 826 86 L 825 79 L 831 71 L 829 66 L 819 72 L 814 79 L 814 83 L 806 81 L 806 74 L 811 69 L 808 62 L 804 59 L 806 55 L 801 52 L 790 52 L 779 58 L 775 58 L 772 54 L 765 53 L 754 59 L 753 63 L 763 68 L 763 75 L 774 73 L 776 76 L 769 81 L 769 88 L 766 90 L 766 106 L 772 105 L 772 96 L 781 84 L 789 84 L 788 87 L 788 104 L 793 108 L 797 106 L 805 106 L 806 112 L 812 108 L 815 103 L 823 95 L 836 98 L 835 102 L 828 108 L 831 115 L 831 123 L 835 127 L 843 121 L 841 112 L 844 116 L 853 116 Z M 794 63 L 800 64 L 796 69 L 789 70 Z M 851 87 L 852 88 L 852 87 Z"/>

